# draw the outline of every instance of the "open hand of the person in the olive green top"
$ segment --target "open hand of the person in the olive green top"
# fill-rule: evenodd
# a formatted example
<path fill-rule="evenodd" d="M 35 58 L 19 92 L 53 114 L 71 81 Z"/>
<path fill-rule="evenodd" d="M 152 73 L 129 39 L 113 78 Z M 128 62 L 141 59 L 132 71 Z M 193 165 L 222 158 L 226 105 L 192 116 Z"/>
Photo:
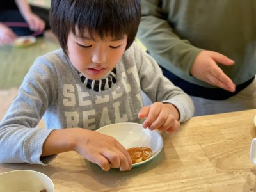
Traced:
<path fill-rule="evenodd" d="M 209 84 L 230 92 L 235 92 L 236 85 L 223 70 L 218 67 L 217 63 L 227 66 L 234 65 L 234 61 L 227 58 L 227 56 L 218 52 L 204 50 L 196 57 L 190 73 L 192 76 Z"/>

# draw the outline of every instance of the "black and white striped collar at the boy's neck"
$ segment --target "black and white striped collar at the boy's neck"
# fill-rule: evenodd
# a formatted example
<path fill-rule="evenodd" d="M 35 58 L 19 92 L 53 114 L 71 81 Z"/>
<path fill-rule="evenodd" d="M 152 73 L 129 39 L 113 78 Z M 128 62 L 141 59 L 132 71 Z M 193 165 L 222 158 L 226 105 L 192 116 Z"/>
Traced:
<path fill-rule="evenodd" d="M 116 69 L 114 68 L 106 79 L 91 80 L 83 76 L 80 72 L 79 76 L 82 83 L 86 84 L 88 89 L 94 90 L 95 92 L 101 92 L 108 90 L 116 83 Z"/>

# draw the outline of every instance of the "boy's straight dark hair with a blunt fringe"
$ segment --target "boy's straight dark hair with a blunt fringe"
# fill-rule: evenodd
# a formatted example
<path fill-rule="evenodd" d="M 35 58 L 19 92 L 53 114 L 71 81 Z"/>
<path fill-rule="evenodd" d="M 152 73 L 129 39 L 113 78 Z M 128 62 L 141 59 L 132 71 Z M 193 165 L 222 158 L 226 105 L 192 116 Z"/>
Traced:
<path fill-rule="evenodd" d="M 70 30 L 74 35 L 88 30 L 92 39 L 95 34 L 116 40 L 127 35 L 128 49 L 136 37 L 140 16 L 140 0 L 51 0 L 51 29 L 65 54 Z"/>

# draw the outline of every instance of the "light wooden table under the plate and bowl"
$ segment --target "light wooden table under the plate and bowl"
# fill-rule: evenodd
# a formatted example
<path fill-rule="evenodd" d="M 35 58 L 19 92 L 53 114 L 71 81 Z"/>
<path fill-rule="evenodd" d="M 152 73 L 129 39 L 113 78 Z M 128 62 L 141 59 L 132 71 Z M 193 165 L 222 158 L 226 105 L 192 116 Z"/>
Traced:
<path fill-rule="evenodd" d="M 256 109 L 191 118 L 152 161 L 127 172 L 104 172 L 76 154 L 59 154 L 48 166 L 0 164 L 0 173 L 29 169 L 51 177 L 56 191 L 256 191 L 250 161 Z"/>

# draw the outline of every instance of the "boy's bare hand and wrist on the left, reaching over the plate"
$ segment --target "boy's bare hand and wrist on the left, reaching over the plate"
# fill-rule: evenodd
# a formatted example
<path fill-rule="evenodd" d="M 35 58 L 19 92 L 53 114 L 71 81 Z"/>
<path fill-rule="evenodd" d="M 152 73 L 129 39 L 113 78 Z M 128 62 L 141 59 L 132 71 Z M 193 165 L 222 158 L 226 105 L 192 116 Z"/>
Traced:
<path fill-rule="evenodd" d="M 127 150 L 113 137 L 81 128 L 54 130 L 44 142 L 41 157 L 76 151 L 103 170 L 130 170 L 132 160 Z"/>

